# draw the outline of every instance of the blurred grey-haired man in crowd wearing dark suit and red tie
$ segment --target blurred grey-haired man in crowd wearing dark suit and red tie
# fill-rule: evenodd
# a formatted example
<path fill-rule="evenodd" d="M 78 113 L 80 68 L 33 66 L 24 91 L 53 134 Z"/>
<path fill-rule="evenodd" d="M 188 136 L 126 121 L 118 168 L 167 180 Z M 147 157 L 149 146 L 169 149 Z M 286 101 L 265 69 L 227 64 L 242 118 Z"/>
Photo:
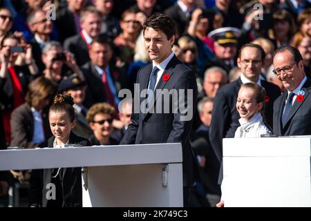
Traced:
<path fill-rule="evenodd" d="M 120 102 L 117 93 L 127 88 L 127 84 L 122 71 L 110 64 L 113 55 L 111 41 L 103 36 L 97 37 L 91 43 L 89 54 L 91 61 L 82 66 L 88 86 L 84 106 L 90 108 L 95 103 L 107 102 L 117 110 Z"/>

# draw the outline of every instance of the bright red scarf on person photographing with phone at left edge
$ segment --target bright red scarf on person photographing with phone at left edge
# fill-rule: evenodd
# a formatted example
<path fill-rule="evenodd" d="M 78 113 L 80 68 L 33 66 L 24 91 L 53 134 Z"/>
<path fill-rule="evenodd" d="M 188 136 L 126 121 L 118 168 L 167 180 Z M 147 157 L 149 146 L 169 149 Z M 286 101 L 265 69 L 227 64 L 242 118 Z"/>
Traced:
<path fill-rule="evenodd" d="M 23 104 L 25 102 L 25 98 L 23 95 L 23 88 L 21 87 L 21 82 L 19 81 L 17 74 L 13 67 L 8 68 L 8 72 L 10 73 L 10 79 L 12 83 L 12 90 L 13 90 L 13 108 L 10 110 L 3 111 L 3 125 L 4 125 L 4 132 L 6 133 L 6 142 L 11 142 L 11 126 L 10 126 L 10 119 L 12 111 Z"/>

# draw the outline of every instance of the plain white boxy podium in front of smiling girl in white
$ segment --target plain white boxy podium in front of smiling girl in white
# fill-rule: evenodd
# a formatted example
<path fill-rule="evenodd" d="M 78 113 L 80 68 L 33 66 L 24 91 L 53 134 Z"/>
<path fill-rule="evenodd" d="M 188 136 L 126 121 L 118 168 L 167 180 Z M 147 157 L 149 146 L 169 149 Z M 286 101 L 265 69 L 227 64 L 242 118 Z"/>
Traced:
<path fill-rule="evenodd" d="M 225 206 L 311 206 L 310 141 L 223 139 Z"/>

